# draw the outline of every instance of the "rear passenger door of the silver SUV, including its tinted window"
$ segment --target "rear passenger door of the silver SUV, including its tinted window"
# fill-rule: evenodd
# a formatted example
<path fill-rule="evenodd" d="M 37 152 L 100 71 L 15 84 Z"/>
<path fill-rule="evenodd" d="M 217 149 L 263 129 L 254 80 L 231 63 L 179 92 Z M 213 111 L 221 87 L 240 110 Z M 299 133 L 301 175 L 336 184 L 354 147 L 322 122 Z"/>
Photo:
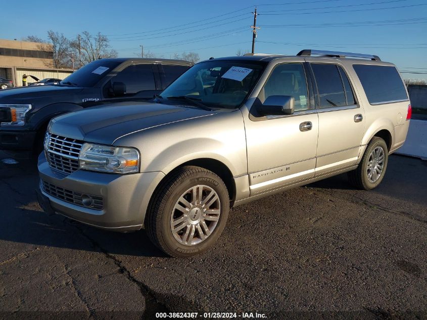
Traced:
<path fill-rule="evenodd" d="M 319 138 L 315 175 L 357 163 L 363 133 L 364 110 L 354 94 L 343 66 L 335 62 L 310 62 L 316 86 Z"/>

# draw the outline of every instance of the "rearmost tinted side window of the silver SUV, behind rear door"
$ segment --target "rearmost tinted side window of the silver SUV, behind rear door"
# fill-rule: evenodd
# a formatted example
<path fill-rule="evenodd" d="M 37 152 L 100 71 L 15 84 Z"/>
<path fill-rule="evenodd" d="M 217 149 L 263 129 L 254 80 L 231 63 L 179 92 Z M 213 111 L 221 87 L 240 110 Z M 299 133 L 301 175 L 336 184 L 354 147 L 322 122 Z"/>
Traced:
<path fill-rule="evenodd" d="M 408 100 L 402 78 L 395 67 L 355 64 L 353 68 L 371 105 Z"/>

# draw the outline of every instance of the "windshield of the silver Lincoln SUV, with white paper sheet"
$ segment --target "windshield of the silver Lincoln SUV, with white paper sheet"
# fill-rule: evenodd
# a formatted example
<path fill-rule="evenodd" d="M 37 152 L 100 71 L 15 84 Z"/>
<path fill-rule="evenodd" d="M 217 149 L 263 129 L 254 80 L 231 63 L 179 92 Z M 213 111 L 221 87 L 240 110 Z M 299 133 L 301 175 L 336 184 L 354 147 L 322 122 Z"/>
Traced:
<path fill-rule="evenodd" d="M 236 60 L 201 62 L 176 79 L 161 97 L 187 97 L 210 107 L 237 108 L 252 91 L 265 65 Z"/>

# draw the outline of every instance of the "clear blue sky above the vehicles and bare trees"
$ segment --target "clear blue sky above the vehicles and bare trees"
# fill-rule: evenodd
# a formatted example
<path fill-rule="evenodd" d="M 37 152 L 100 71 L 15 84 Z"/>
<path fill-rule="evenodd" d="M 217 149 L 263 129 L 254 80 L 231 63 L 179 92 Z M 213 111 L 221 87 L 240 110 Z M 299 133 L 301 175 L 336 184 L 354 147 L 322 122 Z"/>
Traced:
<path fill-rule="evenodd" d="M 100 31 L 121 57 L 136 57 L 139 45 L 164 58 L 184 51 L 197 52 L 201 59 L 232 56 L 251 49 L 255 5 L 261 26 L 256 52 L 375 54 L 401 71 L 427 73 L 425 0 L 7 1 L 0 38 L 46 38 L 49 29 L 70 38 L 84 30 Z M 404 77 L 427 79 L 427 74 Z"/>

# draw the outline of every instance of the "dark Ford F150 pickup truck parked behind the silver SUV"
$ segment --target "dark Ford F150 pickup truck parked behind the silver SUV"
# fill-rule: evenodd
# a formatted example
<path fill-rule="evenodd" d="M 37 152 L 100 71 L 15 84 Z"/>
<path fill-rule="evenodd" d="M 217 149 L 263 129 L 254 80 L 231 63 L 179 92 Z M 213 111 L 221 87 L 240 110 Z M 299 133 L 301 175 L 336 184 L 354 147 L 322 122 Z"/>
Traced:
<path fill-rule="evenodd" d="M 106 102 L 148 100 L 192 66 L 167 59 L 99 59 L 58 85 L 32 85 L 0 93 L 0 149 L 28 157 L 42 150 L 49 121 Z"/>

